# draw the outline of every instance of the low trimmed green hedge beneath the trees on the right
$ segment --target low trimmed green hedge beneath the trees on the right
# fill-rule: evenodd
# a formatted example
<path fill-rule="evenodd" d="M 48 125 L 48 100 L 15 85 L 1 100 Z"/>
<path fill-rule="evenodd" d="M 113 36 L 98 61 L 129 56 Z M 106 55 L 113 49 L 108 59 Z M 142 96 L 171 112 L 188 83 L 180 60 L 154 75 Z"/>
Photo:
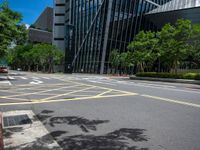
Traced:
<path fill-rule="evenodd" d="M 152 78 L 172 78 L 172 79 L 192 79 L 200 80 L 200 73 L 157 73 L 157 72 L 140 72 L 137 77 L 152 77 Z"/>

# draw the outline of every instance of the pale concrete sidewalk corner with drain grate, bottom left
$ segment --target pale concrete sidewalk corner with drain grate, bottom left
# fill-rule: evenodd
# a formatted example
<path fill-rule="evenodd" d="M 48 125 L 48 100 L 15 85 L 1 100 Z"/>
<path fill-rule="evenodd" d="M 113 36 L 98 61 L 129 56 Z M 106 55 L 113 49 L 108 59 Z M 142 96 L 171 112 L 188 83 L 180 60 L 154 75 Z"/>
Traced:
<path fill-rule="evenodd" d="M 19 116 L 22 115 L 26 115 L 28 119 L 19 122 Z M 61 150 L 58 143 L 31 110 L 4 112 L 3 117 L 5 121 L 3 128 L 5 150 Z M 8 119 L 9 117 L 12 119 Z M 14 117 L 18 119 L 13 121 Z"/>

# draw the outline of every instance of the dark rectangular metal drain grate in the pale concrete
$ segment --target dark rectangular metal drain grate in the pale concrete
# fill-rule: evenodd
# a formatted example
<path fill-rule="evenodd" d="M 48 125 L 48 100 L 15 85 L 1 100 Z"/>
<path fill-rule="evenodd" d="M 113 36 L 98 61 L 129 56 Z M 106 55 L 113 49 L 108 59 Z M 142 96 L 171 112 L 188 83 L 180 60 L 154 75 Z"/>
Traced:
<path fill-rule="evenodd" d="M 4 127 L 31 124 L 32 121 L 28 115 L 8 116 L 3 117 Z"/>

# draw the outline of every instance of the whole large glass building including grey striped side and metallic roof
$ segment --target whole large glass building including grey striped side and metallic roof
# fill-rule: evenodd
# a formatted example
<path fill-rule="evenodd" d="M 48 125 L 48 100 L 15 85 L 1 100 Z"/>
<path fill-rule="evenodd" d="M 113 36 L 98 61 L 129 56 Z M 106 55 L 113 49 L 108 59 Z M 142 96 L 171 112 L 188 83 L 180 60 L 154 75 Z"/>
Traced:
<path fill-rule="evenodd" d="M 112 49 L 177 19 L 200 23 L 200 0 L 54 0 L 53 43 L 74 72 L 106 73 Z"/>

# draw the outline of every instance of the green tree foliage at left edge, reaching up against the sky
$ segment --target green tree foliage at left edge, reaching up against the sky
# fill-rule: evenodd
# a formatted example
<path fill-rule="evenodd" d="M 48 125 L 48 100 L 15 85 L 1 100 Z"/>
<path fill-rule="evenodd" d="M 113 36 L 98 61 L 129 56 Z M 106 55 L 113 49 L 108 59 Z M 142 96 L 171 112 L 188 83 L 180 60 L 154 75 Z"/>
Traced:
<path fill-rule="evenodd" d="M 22 44 L 26 41 L 27 31 L 21 20 L 22 15 L 12 11 L 7 1 L 0 4 L 0 57 L 6 55 L 12 43 Z"/>

